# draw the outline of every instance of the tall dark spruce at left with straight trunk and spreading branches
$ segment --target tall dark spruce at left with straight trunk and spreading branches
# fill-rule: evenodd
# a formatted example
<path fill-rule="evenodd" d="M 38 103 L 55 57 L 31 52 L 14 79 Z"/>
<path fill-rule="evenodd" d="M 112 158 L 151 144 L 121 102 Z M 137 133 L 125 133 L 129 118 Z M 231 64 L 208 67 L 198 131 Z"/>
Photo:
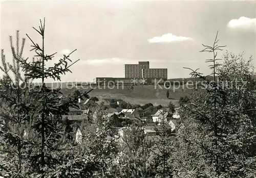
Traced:
<path fill-rule="evenodd" d="M 60 81 L 62 74 L 71 72 L 69 68 L 74 63 L 70 60 L 70 55 L 75 50 L 67 56 L 63 55 L 63 58 L 59 59 L 59 62 L 52 67 L 46 67 L 46 63 L 53 60 L 56 53 L 52 55 L 47 55 L 46 53 L 45 19 L 43 22 L 40 20 L 39 29 L 33 29 L 41 37 L 41 46 L 26 34 L 32 42 L 31 50 L 35 52 L 35 58 L 33 58 L 32 62 L 23 58 L 18 59 L 18 61 L 28 79 L 41 80 L 41 85 L 34 87 L 30 91 L 30 95 L 34 98 L 32 101 L 33 106 L 30 109 L 35 110 L 37 113 L 36 117 L 33 118 L 33 129 L 39 134 L 39 139 L 34 140 L 30 155 L 30 166 L 32 168 L 31 172 L 39 174 L 41 177 L 47 177 L 47 174 L 54 170 L 55 165 L 60 164 L 60 160 L 56 159 L 58 157 L 53 154 L 59 149 L 58 141 L 61 136 L 61 128 L 58 121 L 62 118 L 61 115 L 67 114 L 70 106 L 77 107 L 78 97 L 83 97 L 86 93 L 68 98 L 63 103 L 59 98 L 62 94 L 60 88 L 54 89 L 46 86 L 46 79 Z M 69 65 L 69 63 L 72 64 Z"/>

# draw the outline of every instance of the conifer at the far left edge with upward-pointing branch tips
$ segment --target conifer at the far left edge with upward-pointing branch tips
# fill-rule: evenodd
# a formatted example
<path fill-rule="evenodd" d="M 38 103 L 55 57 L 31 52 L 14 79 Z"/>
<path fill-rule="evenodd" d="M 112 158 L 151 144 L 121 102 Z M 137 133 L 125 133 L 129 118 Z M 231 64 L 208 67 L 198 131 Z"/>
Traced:
<path fill-rule="evenodd" d="M 5 176 L 25 176 L 26 170 L 26 146 L 30 144 L 23 136 L 31 128 L 31 118 L 34 113 L 29 111 L 31 96 L 29 90 L 31 82 L 20 73 L 18 59 L 23 56 L 25 38 L 22 39 L 22 45 L 19 43 L 19 31 L 16 31 L 16 46 L 13 45 L 12 36 L 10 36 L 11 51 L 13 56 L 12 64 L 6 62 L 6 56 L 2 49 L 2 65 L 0 70 L 4 73 L 0 80 L 0 118 L 6 122 L 0 128 L 1 152 L 3 152 L 0 163 L 0 172 Z M 10 73 L 11 72 L 11 73 Z M 13 79 L 14 78 L 14 79 Z M 0 126 L 1 127 L 1 126 Z M 8 164 L 5 164 L 8 163 Z"/>

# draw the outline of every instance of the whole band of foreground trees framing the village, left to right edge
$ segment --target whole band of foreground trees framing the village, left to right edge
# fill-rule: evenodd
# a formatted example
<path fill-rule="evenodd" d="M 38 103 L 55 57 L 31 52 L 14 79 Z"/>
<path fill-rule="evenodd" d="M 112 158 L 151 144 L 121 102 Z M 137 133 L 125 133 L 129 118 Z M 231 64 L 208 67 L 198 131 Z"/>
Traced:
<path fill-rule="evenodd" d="M 35 29 L 41 42 L 29 35 L 32 61 L 23 57 L 17 31 L 12 37 L 12 64 L 2 50 L 0 80 L 0 176 L 3 177 L 243 177 L 256 176 L 256 92 L 252 58 L 226 52 L 218 33 L 209 53 L 209 75 L 190 69 L 198 87 L 180 100 L 181 124 L 167 133 L 161 124 L 159 140 L 148 141 L 140 126 L 131 125 L 121 137 L 113 120 L 96 107 L 97 117 L 78 126 L 62 120 L 77 100 L 90 92 L 61 98 L 60 89 L 46 87 L 45 79 L 61 80 L 70 71 L 69 55 L 54 59 L 45 52 L 45 20 Z M 40 45 L 39 45 L 40 44 Z M 56 64 L 46 67 L 46 63 Z M 41 86 L 33 86 L 33 80 Z"/>

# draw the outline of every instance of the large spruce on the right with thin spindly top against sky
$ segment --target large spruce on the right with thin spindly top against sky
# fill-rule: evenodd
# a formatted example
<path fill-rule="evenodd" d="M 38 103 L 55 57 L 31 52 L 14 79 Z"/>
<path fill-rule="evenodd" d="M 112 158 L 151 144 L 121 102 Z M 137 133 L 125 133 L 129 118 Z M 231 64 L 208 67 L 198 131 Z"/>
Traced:
<path fill-rule="evenodd" d="M 194 90 L 189 103 L 182 106 L 184 128 L 178 134 L 178 149 L 183 152 L 177 152 L 176 161 L 177 174 L 182 177 L 246 177 L 255 172 L 253 165 L 248 168 L 243 164 L 254 159 L 248 154 L 248 147 L 255 132 L 248 115 L 241 110 L 242 105 L 233 103 L 233 92 L 222 85 L 225 72 L 217 80 L 221 66 L 217 51 L 224 47 L 217 42 L 216 36 L 214 45 L 204 45 L 202 50 L 213 54 L 212 59 L 206 60 L 212 63 L 211 78 L 192 70 L 191 75 L 204 82 Z"/>

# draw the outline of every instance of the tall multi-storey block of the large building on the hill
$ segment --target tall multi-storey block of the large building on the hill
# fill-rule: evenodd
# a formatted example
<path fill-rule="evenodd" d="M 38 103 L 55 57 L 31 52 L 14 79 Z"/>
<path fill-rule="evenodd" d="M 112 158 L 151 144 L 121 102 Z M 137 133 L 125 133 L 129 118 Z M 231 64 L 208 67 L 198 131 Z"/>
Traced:
<path fill-rule="evenodd" d="M 167 68 L 150 68 L 149 61 L 139 64 L 124 64 L 125 78 L 154 78 L 167 79 Z"/>

